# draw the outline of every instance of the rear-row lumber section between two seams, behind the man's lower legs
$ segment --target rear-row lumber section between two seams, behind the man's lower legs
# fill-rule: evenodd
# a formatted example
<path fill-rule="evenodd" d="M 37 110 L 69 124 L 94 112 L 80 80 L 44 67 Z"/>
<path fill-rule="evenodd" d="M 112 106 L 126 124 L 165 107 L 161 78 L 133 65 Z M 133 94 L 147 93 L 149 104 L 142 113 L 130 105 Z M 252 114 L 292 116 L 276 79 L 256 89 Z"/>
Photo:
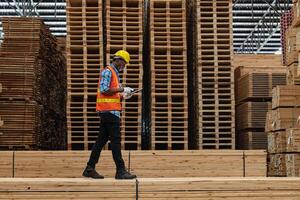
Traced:
<path fill-rule="evenodd" d="M 88 151 L 16 151 L 15 177 L 82 177 L 88 162 Z M 128 152 L 123 152 L 127 165 Z M 106 177 L 114 177 L 116 168 L 111 151 L 102 151 L 97 171 Z"/>

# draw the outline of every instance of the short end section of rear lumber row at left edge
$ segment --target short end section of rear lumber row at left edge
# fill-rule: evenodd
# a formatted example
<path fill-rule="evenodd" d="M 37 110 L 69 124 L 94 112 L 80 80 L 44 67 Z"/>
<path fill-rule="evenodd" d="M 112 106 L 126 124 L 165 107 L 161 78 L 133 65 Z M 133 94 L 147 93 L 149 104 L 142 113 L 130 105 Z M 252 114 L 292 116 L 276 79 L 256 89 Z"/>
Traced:
<path fill-rule="evenodd" d="M 13 151 L 0 151 L 0 177 L 13 177 Z"/>

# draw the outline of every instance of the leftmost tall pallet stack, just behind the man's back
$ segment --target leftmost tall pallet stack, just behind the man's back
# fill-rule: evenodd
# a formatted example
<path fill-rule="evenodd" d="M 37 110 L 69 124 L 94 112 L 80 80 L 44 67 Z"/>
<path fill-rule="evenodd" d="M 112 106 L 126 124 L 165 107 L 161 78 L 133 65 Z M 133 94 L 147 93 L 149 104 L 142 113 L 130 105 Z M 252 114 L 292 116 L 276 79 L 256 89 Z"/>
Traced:
<path fill-rule="evenodd" d="M 103 65 L 102 1 L 67 1 L 68 149 L 91 149 L 99 133 L 95 111 Z"/>

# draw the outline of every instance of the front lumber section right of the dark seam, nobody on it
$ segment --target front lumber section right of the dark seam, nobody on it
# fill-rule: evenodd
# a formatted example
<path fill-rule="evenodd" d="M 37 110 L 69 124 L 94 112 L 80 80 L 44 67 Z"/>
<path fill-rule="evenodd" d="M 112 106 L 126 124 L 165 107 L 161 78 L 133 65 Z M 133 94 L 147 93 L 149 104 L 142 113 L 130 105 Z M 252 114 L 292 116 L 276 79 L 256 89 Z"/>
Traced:
<path fill-rule="evenodd" d="M 300 197 L 299 178 L 140 179 L 142 199 L 267 200 Z"/>

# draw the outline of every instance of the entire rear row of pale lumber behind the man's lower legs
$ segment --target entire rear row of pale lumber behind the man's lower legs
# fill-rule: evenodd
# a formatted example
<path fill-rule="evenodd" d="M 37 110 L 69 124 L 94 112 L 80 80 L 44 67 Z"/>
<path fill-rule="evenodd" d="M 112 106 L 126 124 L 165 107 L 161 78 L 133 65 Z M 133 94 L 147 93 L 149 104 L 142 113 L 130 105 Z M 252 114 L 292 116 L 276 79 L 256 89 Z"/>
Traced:
<path fill-rule="evenodd" d="M 88 151 L 3 151 L 0 174 L 18 178 L 79 178 L 89 154 Z M 262 150 L 122 151 L 122 154 L 128 170 L 142 178 L 266 176 L 266 152 Z M 110 151 L 101 152 L 96 169 L 105 177 L 114 177 L 116 168 Z"/>

